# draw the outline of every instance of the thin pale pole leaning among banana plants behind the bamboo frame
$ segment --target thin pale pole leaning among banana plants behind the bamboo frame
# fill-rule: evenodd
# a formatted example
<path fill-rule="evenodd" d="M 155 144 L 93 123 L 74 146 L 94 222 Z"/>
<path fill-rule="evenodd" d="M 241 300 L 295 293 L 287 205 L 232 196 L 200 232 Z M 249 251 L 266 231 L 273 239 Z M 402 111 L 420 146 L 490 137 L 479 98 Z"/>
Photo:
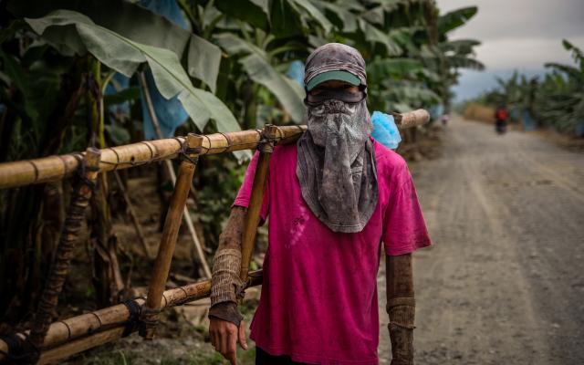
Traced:
<path fill-rule="evenodd" d="M 146 101 L 146 106 L 148 107 L 148 113 L 150 114 L 150 120 L 152 122 L 152 126 L 154 127 L 154 131 L 156 133 L 156 137 L 158 139 L 162 139 L 162 130 L 161 125 L 158 122 L 158 117 L 156 116 L 156 110 L 154 110 L 154 105 L 152 104 L 152 100 L 150 98 L 150 90 L 148 89 L 148 83 L 146 82 L 146 78 L 144 77 L 144 72 L 140 73 L 140 81 L 141 81 L 141 88 L 142 94 L 144 94 L 144 100 Z M 170 160 L 164 160 L 164 165 L 166 166 L 166 171 L 168 172 L 169 176 L 171 177 L 172 185 L 176 184 L 176 174 L 174 173 L 174 168 L 172 167 L 172 162 Z M 193 182 L 189 184 L 189 191 L 193 192 Z M 193 240 L 194 249 L 199 256 L 199 261 L 201 261 L 201 266 L 203 266 L 204 275 L 206 277 L 211 277 L 211 269 L 207 264 L 207 260 L 204 257 L 203 247 L 201 246 L 201 242 L 199 241 L 199 236 L 197 235 L 196 230 L 194 229 L 193 218 L 189 214 L 189 209 L 184 205 L 184 212 L 183 212 L 184 220 L 186 221 L 186 226 L 189 229 L 189 234 L 191 235 L 191 239 Z"/>

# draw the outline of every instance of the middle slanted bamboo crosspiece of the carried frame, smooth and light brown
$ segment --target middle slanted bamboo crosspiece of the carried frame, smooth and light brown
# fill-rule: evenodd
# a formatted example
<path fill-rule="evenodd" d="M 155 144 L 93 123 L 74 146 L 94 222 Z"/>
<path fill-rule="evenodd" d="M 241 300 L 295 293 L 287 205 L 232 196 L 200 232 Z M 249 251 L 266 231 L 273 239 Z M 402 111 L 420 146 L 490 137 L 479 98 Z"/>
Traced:
<path fill-rule="evenodd" d="M 186 199 L 193 181 L 196 159 L 198 159 L 198 154 L 195 154 L 193 150 L 200 149 L 203 137 L 189 134 L 186 143 L 188 151 L 186 151 L 186 157 L 181 162 L 179 176 L 174 185 L 171 204 L 162 230 L 161 245 L 158 247 L 158 255 L 156 256 L 156 261 L 154 261 L 148 298 L 142 308 L 140 335 L 144 339 L 152 339 L 154 336 L 154 327 L 161 310 L 162 292 L 171 268 L 174 246 L 181 226 Z"/>

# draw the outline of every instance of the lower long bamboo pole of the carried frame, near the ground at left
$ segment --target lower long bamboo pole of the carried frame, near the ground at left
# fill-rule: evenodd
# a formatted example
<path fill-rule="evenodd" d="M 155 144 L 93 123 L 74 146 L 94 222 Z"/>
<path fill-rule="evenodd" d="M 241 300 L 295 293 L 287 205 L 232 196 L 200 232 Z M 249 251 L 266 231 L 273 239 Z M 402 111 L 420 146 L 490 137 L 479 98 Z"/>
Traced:
<path fill-rule="evenodd" d="M 261 285 L 262 279 L 262 270 L 249 273 L 249 287 Z M 162 309 L 172 308 L 209 297 L 210 294 L 211 280 L 204 280 L 166 290 L 162 294 L 160 306 Z M 130 303 L 140 308 L 144 304 L 144 299 L 132 299 Z M 40 362 L 61 360 L 134 332 L 135 326 L 130 322 L 129 307 L 126 304 L 118 304 L 54 322 L 48 328 Z M 127 330 L 128 328 L 130 330 Z M 22 340 L 26 339 L 27 335 L 27 332 L 16 333 Z M 5 354 L 10 354 L 10 349 L 8 344 L 0 339 L 0 361 L 6 360 Z"/>

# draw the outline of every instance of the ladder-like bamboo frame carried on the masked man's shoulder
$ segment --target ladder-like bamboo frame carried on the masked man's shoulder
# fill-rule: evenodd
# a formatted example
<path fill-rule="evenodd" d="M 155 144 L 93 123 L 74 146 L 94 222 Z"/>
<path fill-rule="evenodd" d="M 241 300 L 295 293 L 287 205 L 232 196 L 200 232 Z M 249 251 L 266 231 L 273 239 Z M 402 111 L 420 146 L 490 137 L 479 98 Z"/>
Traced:
<path fill-rule="evenodd" d="M 429 114 L 425 110 L 393 115 L 396 124 L 401 129 L 422 125 L 429 120 Z M 41 328 L 42 337 L 44 337 L 42 346 L 34 344 L 40 350 L 39 363 L 64 359 L 80 351 L 91 349 L 114 339 L 120 339 L 130 335 L 139 327 L 141 335 L 145 339 L 151 339 L 160 311 L 209 296 L 211 280 L 163 291 L 169 275 L 172 253 L 186 197 L 191 190 L 195 159 L 201 155 L 255 148 L 260 151 L 250 207 L 245 219 L 240 274 L 245 280 L 245 287 L 260 285 L 262 281 L 261 270 L 248 275 L 248 266 L 253 255 L 255 234 L 259 222 L 259 208 L 266 182 L 269 158 L 276 144 L 296 141 L 304 130 L 306 130 L 306 126 L 276 127 L 268 125 L 264 130 L 244 130 L 203 136 L 189 135 L 187 138 L 142 141 L 100 150 L 99 172 L 169 160 L 179 155 L 183 157 L 169 214 L 164 224 L 154 272 L 151 276 L 149 297 L 129 300 L 110 308 L 59 320 L 48 326 L 45 324 Z M 23 162 L 2 163 L 0 164 L 0 189 L 65 179 L 78 170 L 84 158 L 84 153 L 71 153 Z M 12 336 L 12 339 L 13 342 L 14 339 L 17 339 L 21 343 L 21 349 L 30 346 L 28 331 L 17 333 Z M 14 351 L 11 352 L 10 349 L 10 342 L 0 339 L 0 361 L 11 360 L 8 358 L 14 356 Z"/>

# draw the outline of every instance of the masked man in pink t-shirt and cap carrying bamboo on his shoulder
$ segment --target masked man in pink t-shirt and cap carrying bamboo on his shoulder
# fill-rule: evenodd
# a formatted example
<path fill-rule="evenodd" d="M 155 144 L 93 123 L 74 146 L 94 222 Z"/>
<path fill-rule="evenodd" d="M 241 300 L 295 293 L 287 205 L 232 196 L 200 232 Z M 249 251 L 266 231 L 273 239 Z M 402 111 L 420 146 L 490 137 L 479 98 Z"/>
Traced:
<path fill-rule="evenodd" d="M 276 146 L 262 219 L 269 214 L 264 283 L 251 325 L 256 364 L 377 364 L 377 271 L 387 263 L 392 364 L 412 364 L 413 250 L 430 245 L 406 163 L 370 138 L 365 61 L 345 45 L 307 59 L 308 131 Z M 257 154 L 214 258 L 210 335 L 236 363 L 245 325 L 236 307 L 245 209 Z"/>

